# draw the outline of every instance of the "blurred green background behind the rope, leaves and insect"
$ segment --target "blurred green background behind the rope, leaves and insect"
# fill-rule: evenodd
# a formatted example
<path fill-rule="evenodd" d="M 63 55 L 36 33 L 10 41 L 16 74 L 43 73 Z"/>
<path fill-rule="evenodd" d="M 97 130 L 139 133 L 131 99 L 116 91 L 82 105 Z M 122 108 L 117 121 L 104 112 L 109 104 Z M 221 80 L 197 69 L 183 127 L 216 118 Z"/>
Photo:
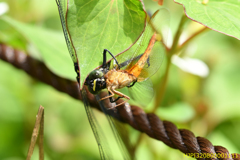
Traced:
<path fill-rule="evenodd" d="M 0 2 L 9 7 L 5 15 L 33 27 L 40 26 L 57 32 L 64 42 L 55 0 Z M 159 8 L 154 1 L 145 0 L 144 3 L 151 13 Z M 168 38 L 171 43 L 183 15 L 183 8 L 172 1 L 166 1 L 163 7 L 168 8 L 171 14 L 171 33 Z M 191 35 L 199 27 L 200 25 L 189 20 L 185 25 L 184 35 Z M 39 52 L 23 35 L 14 32 L 14 29 L 9 28 L 9 32 L 6 32 L 1 24 L 0 29 L 0 42 L 17 49 Z M 230 153 L 240 153 L 239 50 L 239 41 L 232 37 L 210 30 L 199 35 L 180 57 L 197 59 L 202 65 L 195 67 L 196 72 L 202 73 L 201 68 L 207 66 L 209 73 L 205 69 L 204 76 L 199 76 L 183 71 L 180 64 L 172 64 L 166 93 L 156 114 L 162 120 L 174 122 L 178 128 L 189 129 L 196 136 L 206 137 L 213 145 L 226 147 Z M 189 63 L 185 65 L 194 68 Z M 153 76 L 154 88 L 158 87 L 164 72 L 163 65 Z M 1 160 L 25 159 L 39 105 L 45 107 L 46 160 L 99 159 L 97 144 L 82 103 L 32 79 L 25 72 L 2 60 L 0 104 Z M 96 116 L 104 130 L 110 132 L 103 114 L 96 111 Z M 133 141 L 136 140 L 138 131 L 130 127 L 129 129 Z M 38 159 L 37 152 L 36 147 L 32 159 Z M 147 136 L 143 137 L 136 155 L 138 159 L 190 159 L 184 158 L 180 151 Z"/>

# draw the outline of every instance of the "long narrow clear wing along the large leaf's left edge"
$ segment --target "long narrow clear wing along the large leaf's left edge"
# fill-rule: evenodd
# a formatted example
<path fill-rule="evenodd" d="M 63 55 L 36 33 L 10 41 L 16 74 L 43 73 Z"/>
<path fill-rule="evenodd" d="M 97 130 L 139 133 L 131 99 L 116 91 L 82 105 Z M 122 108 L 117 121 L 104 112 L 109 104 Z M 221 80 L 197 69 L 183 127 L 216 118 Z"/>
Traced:
<path fill-rule="evenodd" d="M 66 1 L 65 0 L 56 0 L 57 6 L 58 6 L 58 12 L 59 12 L 59 16 L 60 16 L 60 20 L 61 20 L 61 24 L 62 24 L 62 29 L 63 29 L 63 33 L 64 33 L 64 37 L 65 37 L 65 41 L 67 44 L 67 48 L 68 48 L 68 52 L 72 58 L 73 63 L 77 63 L 77 55 L 73 49 L 72 43 L 70 41 L 70 36 L 68 34 L 67 31 L 67 23 L 66 23 Z"/>

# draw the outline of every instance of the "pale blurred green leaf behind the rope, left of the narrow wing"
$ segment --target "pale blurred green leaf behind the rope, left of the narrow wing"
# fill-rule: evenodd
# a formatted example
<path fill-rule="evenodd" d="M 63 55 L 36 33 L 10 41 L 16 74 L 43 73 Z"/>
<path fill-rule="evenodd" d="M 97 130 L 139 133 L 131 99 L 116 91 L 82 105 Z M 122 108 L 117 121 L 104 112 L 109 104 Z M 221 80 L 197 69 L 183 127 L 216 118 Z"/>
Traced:
<path fill-rule="evenodd" d="M 24 24 L 7 16 L 2 17 L 2 20 L 14 27 L 27 41 L 37 48 L 39 55 L 34 57 L 44 61 L 52 72 L 58 76 L 76 80 L 73 63 L 69 57 L 61 32 Z"/>

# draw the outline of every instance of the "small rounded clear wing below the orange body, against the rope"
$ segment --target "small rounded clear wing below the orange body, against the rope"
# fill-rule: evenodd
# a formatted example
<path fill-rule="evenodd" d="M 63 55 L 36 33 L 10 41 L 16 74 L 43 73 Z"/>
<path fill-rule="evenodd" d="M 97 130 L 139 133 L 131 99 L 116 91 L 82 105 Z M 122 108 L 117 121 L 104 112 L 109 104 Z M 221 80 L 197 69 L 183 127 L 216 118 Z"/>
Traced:
<path fill-rule="evenodd" d="M 147 106 L 154 96 L 154 90 L 151 79 L 137 82 L 129 88 L 130 97 L 142 106 Z"/>

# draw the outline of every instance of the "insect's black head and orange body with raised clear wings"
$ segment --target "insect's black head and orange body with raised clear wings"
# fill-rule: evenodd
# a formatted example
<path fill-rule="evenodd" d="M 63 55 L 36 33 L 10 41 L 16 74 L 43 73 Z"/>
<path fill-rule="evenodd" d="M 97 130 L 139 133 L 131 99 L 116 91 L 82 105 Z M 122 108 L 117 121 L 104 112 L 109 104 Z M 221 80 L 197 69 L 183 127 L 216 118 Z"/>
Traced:
<path fill-rule="evenodd" d="M 165 21 L 162 22 L 163 25 L 157 24 L 161 23 L 160 19 Z M 101 68 L 93 70 L 85 81 L 85 85 L 88 86 L 88 90 L 92 94 L 97 94 L 99 91 L 107 89 L 109 95 L 101 98 L 100 101 L 109 98 L 110 102 L 114 103 L 119 98 L 125 98 L 125 101 L 115 106 L 117 107 L 130 100 L 129 96 L 117 91 L 117 89 L 124 87 L 130 88 L 137 83 L 139 83 L 138 87 L 141 86 L 144 88 L 143 85 L 146 85 L 149 81 L 147 81 L 147 83 L 141 82 L 144 82 L 156 73 L 163 62 L 164 51 L 156 50 L 154 47 L 156 48 L 156 46 L 160 44 L 157 44 L 157 42 L 163 41 L 163 36 L 167 36 L 167 30 L 169 29 L 167 28 L 167 25 L 169 25 L 169 23 L 166 21 L 168 20 L 169 12 L 167 10 L 162 9 L 156 11 L 147 23 L 145 31 L 139 39 L 138 47 L 134 51 L 130 50 L 127 51 L 127 53 L 123 53 L 115 57 L 109 50 L 104 49 Z M 164 34 L 161 33 L 162 30 L 165 30 Z M 116 63 L 116 66 L 113 68 L 110 68 L 106 63 L 107 52 Z M 149 90 L 149 87 L 145 88 Z M 138 92 L 138 95 L 144 94 L 140 93 L 141 90 Z M 112 98 L 114 95 L 118 95 L 116 100 L 113 100 Z M 141 100 L 141 98 L 139 98 L 139 100 Z"/>

